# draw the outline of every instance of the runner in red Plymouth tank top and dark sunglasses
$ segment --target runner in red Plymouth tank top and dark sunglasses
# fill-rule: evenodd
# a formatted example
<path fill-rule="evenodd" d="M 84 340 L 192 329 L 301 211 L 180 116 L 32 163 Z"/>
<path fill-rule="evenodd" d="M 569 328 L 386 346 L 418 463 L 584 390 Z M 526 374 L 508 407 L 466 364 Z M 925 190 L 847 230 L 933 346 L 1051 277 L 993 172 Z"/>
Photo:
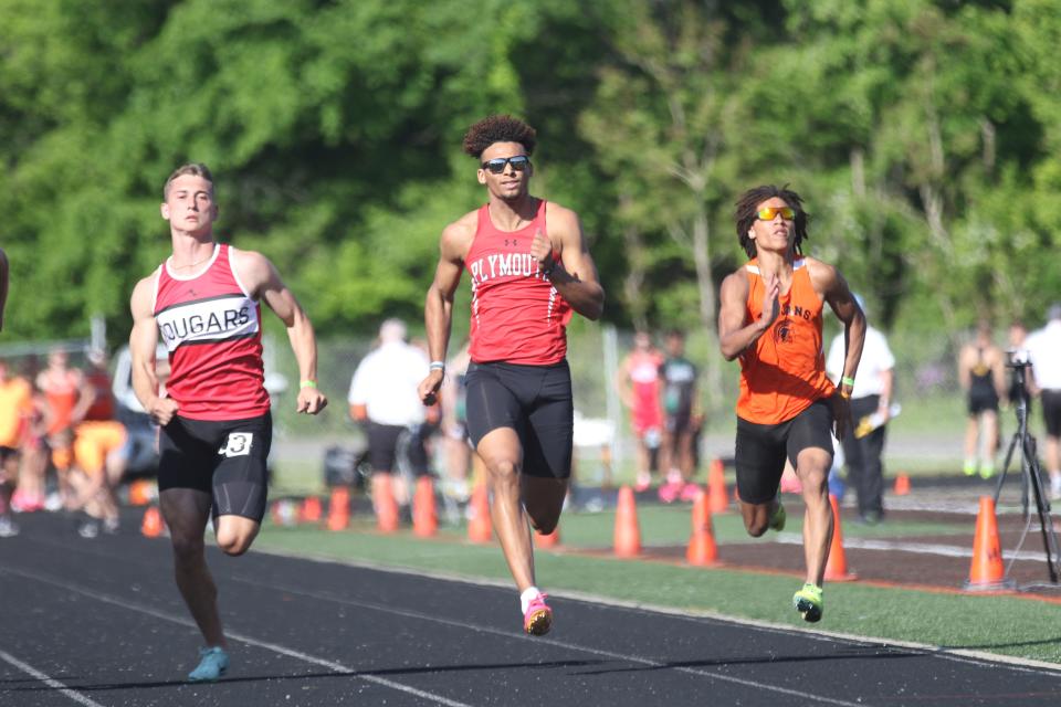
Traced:
<path fill-rule="evenodd" d="M 468 270 L 471 363 L 468 430 L 486 465 L 491 517 L 521 594 L 524 630 L 548 632 L 553 612 L 535 585 L 529 524 L 556 527 L 571 473 L 574 405 L 566 326 L 571 313 L 600 317 L 597 279 L 578 215 L 529 193 L 535 130 L 491 116 L 464 136 L 487 202 L 442 231 L 424 304 L 430 372 L 420 398 L 433 404 L 445 372 L 453 295 Z"/>

